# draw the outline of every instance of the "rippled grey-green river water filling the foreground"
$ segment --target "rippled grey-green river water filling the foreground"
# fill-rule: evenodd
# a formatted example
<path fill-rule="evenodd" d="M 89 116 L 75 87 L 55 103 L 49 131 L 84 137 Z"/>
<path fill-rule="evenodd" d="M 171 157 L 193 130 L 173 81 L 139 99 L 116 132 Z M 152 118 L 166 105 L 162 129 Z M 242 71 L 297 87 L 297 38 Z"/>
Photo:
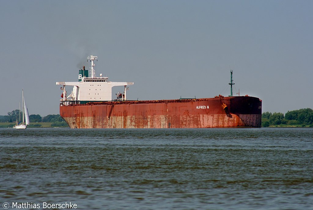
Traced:
<path fill-rule="evenodd" d="M 60 206 L 69 202 L 313 209 L 313 129 L 3 128 L 0 202 L 0 209 L 69 209 Z"/>

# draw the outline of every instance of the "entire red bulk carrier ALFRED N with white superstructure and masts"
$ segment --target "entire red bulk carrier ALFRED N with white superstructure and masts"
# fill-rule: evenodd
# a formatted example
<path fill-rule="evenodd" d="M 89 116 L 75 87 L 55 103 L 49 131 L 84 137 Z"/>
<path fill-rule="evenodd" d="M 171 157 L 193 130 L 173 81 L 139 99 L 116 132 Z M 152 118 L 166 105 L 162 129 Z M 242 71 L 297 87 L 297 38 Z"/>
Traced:
<path fill-rule="evenodd" d="M 226 128 L 261 127 L 262 101 L 256 97 L 230 95 L 201 99 L 127 100 L 133 82 L 110 82 L 95 74 L 97 56 L 90 55 L 89 71 L 79 70 L 78 82 L 62 85 L 60 115 L 70 128 Z M 73 89 L 68 95 L 66 86 Z M 112 87 L 124 86 L 112 100 Z"/>

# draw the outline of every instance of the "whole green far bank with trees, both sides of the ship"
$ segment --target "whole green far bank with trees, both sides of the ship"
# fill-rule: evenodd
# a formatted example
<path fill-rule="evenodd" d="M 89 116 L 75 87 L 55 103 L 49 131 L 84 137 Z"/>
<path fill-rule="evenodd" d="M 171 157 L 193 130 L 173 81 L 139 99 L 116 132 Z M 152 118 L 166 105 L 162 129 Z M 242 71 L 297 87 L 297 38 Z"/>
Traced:
<path fill-rule="evenodd" d="M 0 128 L 12 128 L 19 118 L 19 110 L 0 115 Z M 60 115 L 29 115 L 28 128 L 69 127 Z M 275 128 L 312 128 L 313 110 L 310 108 L 288 111 L 285 115 L 280 112 L 262 113 L 262 127 Z"/>

